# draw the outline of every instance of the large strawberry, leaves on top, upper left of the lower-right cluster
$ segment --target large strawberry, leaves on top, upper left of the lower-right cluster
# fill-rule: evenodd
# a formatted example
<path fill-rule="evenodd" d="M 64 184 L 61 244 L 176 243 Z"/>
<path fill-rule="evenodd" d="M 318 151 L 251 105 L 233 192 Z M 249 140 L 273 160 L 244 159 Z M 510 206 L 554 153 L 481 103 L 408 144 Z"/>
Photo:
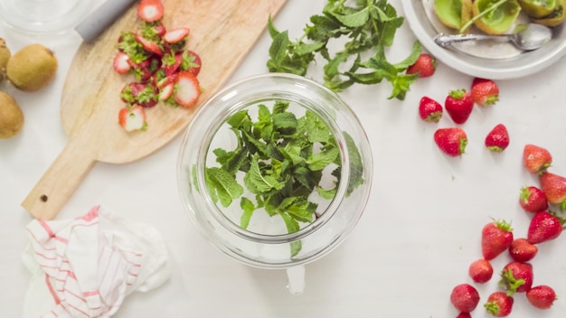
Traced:
<path fill-rule="evenodd" d="M 487 223 L 482 229 L 482 255 L 486 260 L 494 259 L 511 246 L 513 229 L 511 223 L 497 220 Z"/>

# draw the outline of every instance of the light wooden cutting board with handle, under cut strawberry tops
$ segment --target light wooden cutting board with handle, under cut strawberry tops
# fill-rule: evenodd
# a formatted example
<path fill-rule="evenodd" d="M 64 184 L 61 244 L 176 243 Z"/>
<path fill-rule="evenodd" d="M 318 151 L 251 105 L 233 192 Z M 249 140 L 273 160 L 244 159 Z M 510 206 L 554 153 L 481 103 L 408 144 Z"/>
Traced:
<path fill-rule="evenodd" d="M 125 106 L 119 92 L 133 78 L 118 75 L 112 66 L 120 33 L 140 25 L 136 5 L 95 42 L 81 44 L 61 96 L 68 144 L 24 199 L 24 209 L 35 218 L 52 220 L 96 162 L 133 162 L 178 136 L 197 108 L 238 68 L 266 30 L 269 15 L 275 16 L 286 1 L 163 0 L 165 27 L 191 29 L 187 47 L 203 61 L 198 76 L 203 94 L 190 109 L 161 104 L 148 109 L 143 132 L 127 133 L 118 125 L 118 110 Z"/>

